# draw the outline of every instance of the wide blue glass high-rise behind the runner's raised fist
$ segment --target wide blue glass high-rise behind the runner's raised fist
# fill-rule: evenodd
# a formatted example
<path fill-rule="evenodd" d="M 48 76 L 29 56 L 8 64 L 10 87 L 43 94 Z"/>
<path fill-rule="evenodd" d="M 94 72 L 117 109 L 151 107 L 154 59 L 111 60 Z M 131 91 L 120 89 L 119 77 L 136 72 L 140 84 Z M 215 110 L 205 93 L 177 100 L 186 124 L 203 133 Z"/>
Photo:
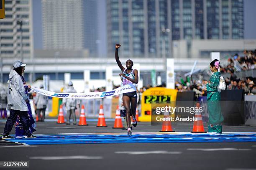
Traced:
<path fill-rule="evenodd" d="M 243 39 L 243 0 L 108 0 L 107 18 L 108 53 L 121 43 L 127 56 L 169 55 L 176 40 Z"/>

